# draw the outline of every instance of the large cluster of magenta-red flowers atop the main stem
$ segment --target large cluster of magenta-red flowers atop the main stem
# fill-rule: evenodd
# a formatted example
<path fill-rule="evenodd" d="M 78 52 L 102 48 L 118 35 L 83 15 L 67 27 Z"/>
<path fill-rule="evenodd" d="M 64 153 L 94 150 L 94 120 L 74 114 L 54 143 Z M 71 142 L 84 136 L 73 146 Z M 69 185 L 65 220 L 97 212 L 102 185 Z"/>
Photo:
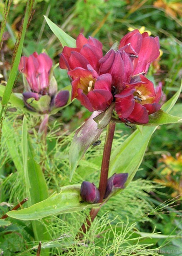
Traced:
<path fill-rule="evenodd" d="M 147 124 L 149 115 L 161 105 L 161 87 L 146 78 L 150 63 L 160 54 L 158 37 L 133 30 L 120 40 L 117 50 L 103 56 L 102 43 L 80 34 L 76 48 L 65 46 L 60 68 L 72 80 L 71 98 L 80 100 L 89 111 L 105 111 L 115 102 L 122 122 Z"/>

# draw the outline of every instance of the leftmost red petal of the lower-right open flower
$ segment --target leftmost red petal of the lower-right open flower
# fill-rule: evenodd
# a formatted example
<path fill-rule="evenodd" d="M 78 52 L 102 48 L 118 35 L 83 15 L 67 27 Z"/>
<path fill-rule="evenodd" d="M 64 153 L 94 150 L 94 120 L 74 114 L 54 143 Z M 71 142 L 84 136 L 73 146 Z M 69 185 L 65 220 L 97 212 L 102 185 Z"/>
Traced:
<path fill-rule="evenodd" d="M 125 98 L 117 98 L 115 104 L 115 109 L 119 117 L 127 118 L 134 109 L 135 100 L 133 95 L 129 95 Z"/>

